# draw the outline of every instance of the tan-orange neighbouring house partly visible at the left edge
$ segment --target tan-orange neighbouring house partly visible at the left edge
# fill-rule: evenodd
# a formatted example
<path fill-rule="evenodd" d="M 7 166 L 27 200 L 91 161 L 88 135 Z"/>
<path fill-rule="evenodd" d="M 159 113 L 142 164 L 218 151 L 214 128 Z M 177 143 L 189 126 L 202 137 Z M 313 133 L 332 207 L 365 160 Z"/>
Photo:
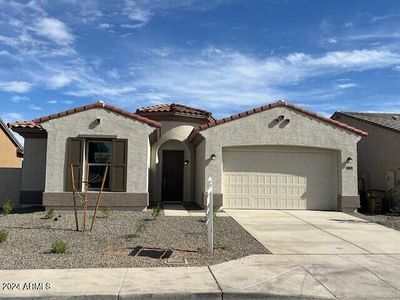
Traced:
<path fill-rule="evenodd" d="M 23 147 L 0 119 L 0 168 L 21 168 Z"/>

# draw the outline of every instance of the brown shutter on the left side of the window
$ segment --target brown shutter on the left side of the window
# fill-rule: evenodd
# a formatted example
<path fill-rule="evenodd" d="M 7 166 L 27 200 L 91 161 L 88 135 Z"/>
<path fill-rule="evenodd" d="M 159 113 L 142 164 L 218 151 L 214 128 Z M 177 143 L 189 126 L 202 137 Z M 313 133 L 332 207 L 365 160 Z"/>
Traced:
<path fill-rule="evenodd" d="M 76 189 L 81 189 L 82 183 L 82 164 L 83 164 L 83 139 L 69 138 L 67 140 L 67 166 L 66 166 L 66 176 L 67 176 L 67 191 L 72 191 L 72 179 L 71 179 L 71 164 L 74 170 L 75 187 Z"/>

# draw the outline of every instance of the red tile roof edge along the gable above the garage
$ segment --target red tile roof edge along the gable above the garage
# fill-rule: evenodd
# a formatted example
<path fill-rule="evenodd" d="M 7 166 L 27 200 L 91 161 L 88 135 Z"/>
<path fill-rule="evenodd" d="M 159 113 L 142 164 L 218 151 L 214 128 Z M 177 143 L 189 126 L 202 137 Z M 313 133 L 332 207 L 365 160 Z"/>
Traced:
<path fill-rule="evenodd" d="M 355 134 L 358 134 L 358 135 L 361 135 L 361 136 L 367 136 L 368 135 L 368 133 L 366 133 L 366 132 L 364 132 L 364 131 L 362 131 L 360 129 L 351 127 L 351 126 L 349 126 L 347 124 L 344 124 L 344 123 L 332 120 L 330 118 L 318 115 L 318 114 L 316 114 L 314 112 L 305 110 L 305 109 L 303 109 L 301 107 L 298 107 L 298 106 L 295 106 L 293 104 L 290 104 L 290 103 L 287 103 L 287 102 L 283 102 L 283 101 L 278 101 L 278 102 L 275 102 L 275 103 L 272 103 L 272 104 L 268 104 L 268 105 L 260 106 L 260 107 L 257 107 L 257 108 L 253 108 L 253 109 L 247 110 L 245 112 L 241 112 L 239 114 L 236 114 L 236 115 L 233 115 L 233 116 L 230 116 L 230 117 L 227 117 L 227 118 L 223 118 L 223 119 L 220 119 L 220 120 L 216 120 L 216 121 L 213 121 L 213 122 L 202 124 L 199 127 L 193 129 L 193 132 L 191 133 L 191 138 L 194 138 L 196 133 L 198 133 L 198 132 L 200 132 L 202 130 L 206 130 L 208 128 L 215 127 L 217 125 L 228 123 L 228 122 L 240 119 L 240 118 L 244 118 L 244 117 L 253 115 L 255 113 L 259 113 L 259 112 L 262 112 L 262 111 L 273 109 L 275 107 L 282 107 L 282 106 L 289 107 L 289 108 L 291 108 L 293 110 L 296 110 L 298 112 L 306 114 L 306 115 L 308 115 L 310 117 L 314 117 L 314 118 L 316 118 L 318 120 L 321 120 L 321 121 L 324 121 L 326 123 L 335 125 L 337 127 L 340 127 L 340 128 L 345 129 L 347 131 L 353 132 Z"/>

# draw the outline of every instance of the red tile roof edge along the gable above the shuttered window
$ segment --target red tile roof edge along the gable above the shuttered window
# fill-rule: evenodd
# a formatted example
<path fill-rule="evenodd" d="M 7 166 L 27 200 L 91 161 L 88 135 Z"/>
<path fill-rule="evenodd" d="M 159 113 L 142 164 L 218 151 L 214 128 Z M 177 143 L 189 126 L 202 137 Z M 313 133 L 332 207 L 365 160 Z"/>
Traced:
<path fill-rule="evenodd" d="M 69 109 L 69 110 L 66 110 L 66 111 L 63 111 L 63 112 L 59 112 L 57 114 L 47 115 L 47 116 L 44 116 L 44 117 L 40 117 L 40 118 L 34 119 L 32 121 L 22 121 L 22 122 L 11 123 L 11 124 L 8 124 L 8 126 L 10 128 L 43 129 L 42 126 L 40 125 L 40 123 L 42 123 L 42 122 L 46 122 L 48 120 L 58 119 L 58 118 L 65 117 L 65 116 L 68 116 L 68 115 L 72 115 L 72 114 L 75 114 L 75 113 L 78 113 L 78 112 L 81 112 L 81 111 L 85 111 L 85 110 L 89 110 L 89 109 L 93 109 L 93 108 L 99 108 L 99 107 L 102 107 L 104 109 L 113 111 L 115 113 L 118 113 L 120 115 L 126 116 L 128 118 L 140 121 L 140 122 L 145 123 L 145 124 L 147 124 L 149 126 L 161 128 L 161 124 L 156 122 L 156 121 L 150 120 L 150 119 L 148 119 L 146 117 L 139 116 L 139 115 L 137 115 L 135 113 L 131 113 L 131 112 L 123 110 L 121 108 L 105 104 L 102 101 L 98 101 L 98 102 L 93 103 L 93 104 L 84 105 L 84 106 L 76 107 L 76 108 L 73 108 L 73 109 Z"/>

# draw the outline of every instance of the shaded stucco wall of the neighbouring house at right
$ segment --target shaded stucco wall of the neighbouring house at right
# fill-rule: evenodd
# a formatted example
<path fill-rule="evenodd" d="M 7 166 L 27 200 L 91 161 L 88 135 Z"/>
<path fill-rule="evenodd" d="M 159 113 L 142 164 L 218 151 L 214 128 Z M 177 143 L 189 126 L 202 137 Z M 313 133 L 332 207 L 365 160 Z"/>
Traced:
<path fill-rule="evenodd" d="M 400 180 L 400 134 L 341 115 L 338 121 L 368 132 L 358 143 L 358 173 L 367 190 L 387 190 L 386 172 Z M 395 189 L 400 191 L 400 182 Z"/>

